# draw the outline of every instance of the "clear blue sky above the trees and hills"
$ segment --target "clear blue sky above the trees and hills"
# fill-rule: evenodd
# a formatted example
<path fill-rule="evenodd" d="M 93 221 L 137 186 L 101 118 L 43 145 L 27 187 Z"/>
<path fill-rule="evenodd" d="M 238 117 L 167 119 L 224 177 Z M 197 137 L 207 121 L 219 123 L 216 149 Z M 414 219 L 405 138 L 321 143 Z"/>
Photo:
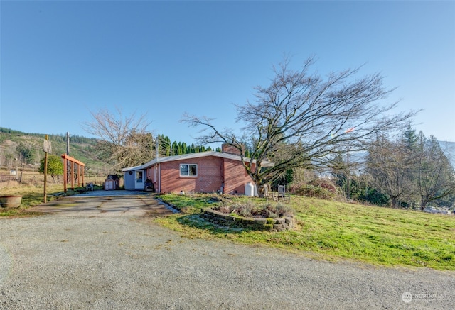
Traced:
<path fill-rule="evenodd" d="M 192 143 L 184 112 L 238 128 L 272 66 L 380 72 L 414 127 L 455 141 L 455 1 L 0 1 L 0 126 L 88 135 L 90 111 L 146 114 Z"/>

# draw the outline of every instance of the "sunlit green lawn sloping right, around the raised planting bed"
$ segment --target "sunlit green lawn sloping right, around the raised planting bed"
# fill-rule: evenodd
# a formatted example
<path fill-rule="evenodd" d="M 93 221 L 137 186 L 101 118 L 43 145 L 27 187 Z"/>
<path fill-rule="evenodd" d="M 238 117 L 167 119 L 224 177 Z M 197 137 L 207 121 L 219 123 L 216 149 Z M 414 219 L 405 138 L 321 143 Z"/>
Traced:
<path fill-rule="evenodd" d="M 343 258 L 373 265 L 455 270 L 453 215 L 293 196 L 291 206 L 296 211 L 296 228 L 269 233 L 222 228 L 204 221 L 198 215 L 200 209 L 216 204 L 210 204 L 210 195 L 161 195 L 160 198 L 185 212 L 156 221 L 189 238 L 226 238 L 324 260 Z"/>

